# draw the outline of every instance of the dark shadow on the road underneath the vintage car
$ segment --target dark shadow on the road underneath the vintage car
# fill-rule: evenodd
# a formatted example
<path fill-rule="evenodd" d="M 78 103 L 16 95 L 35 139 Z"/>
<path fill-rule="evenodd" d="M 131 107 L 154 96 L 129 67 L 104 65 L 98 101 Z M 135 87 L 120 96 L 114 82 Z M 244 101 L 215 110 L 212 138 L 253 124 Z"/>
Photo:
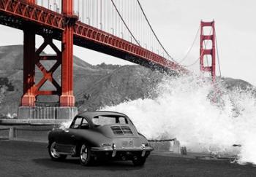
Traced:
<path fill-rule="evenodd" d="M 70 170 L 139 170 L 143 167 L 135 167 L 131 161 L 97 161 L 90 166 L 82 166 L 78 159 L 67 159 L 63 161 L 53 161 L 50 158 L 34 159 L 35 163 L 47 168 L 70 169 Z"/>

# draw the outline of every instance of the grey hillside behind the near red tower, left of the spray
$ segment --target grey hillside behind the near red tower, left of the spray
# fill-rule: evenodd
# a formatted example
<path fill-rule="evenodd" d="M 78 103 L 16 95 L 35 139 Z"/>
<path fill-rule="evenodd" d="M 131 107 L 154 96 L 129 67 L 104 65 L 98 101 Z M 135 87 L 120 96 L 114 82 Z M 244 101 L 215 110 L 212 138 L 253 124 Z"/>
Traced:
<path fill-rule="evenodd" d="M 23 93 L 23 46 L 0 47 L 0 114 L 16 113 Z M 50 62 L 42 62 L 50 68 Z M 60 81 L 61 69 L 54 74 Z M 36 68 L 36 82 L 42 76 Z M 151 79 L 154 78 L 154 79 Z M 151 86 L 157 84 L 162 74 L 142 66 L 118 66 L 102 63 L 92 66 L 74 56 L 74 94 L 80 109 L 95 110 L 105 105 L 115 105 L 127 100 L 144 98 Z M 3 81 L 1 81 L 1 79 Z M 43 89 L 51 87 L 46 83 Z M 39 97 L 39 101 L 52 101 Z"/>

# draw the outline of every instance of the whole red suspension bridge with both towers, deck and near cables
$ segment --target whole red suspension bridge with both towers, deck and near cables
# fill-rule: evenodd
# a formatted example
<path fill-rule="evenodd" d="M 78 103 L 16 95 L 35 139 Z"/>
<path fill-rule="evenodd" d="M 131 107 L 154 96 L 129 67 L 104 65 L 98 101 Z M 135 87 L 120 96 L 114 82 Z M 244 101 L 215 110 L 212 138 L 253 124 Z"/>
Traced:
<path fill-rule="evenodd" d="M 0 24 L 23 31 L 23 96 L 18 109 L 19 119 L 69 119 L 77 113 L 73 95 L 73 45 L 112 55 L 132 63 L 170 73 L 191 74 L 165 50 L 153 30 L 139 0 L 0 0 Z M 201 22 L 200 71 L 215 74 L 214 21 Z M 204 27 L 212 33 L 203 34 Z M 36 35 L 44 42 L 36 49 Z M 61 41 L 61 48 L 53 39 Z M 205 48 L 205 41 L 211 48 Z M 50 46 L 56 55 L 43 53 Z M 206 66 L 205 56 L 211 57 Z M 42 60 L 56 60 L 46 69 Z M 42 79 L 35 82 L 35 67 L 42 71 Z M 61 84 L 53 73 L 61 67 Z M 42 90 L 50 81 L 55 90 Z M 58 95 L 59 106 L 36 106 L 38 95 Z"/>

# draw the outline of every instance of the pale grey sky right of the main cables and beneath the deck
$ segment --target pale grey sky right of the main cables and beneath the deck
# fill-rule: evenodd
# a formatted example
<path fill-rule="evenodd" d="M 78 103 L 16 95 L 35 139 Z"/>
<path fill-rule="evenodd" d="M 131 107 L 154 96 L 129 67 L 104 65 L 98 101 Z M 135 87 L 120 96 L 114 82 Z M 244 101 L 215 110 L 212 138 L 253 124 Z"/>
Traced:
<path fill-rule="evenodd" d="M 256 1 L 253 0 L 140 0 L 162 44 L 177 61 L 184 58 L 195 39 L 200 20 L 215 20 L 222 76 L 256 85 Z M 23 31 L 0 25 L 0 46 L 23 44 Z M 37 38 L 37 47 L 42 42 Z M 132 64 L 81 47 L 74 55 L 91 64 Z M 199 36 L 184 65 L 199 57 Z M 199 70 L 199 63 L 189 68 Z M 217 68 L 219 75 L 219 68 Z"/>

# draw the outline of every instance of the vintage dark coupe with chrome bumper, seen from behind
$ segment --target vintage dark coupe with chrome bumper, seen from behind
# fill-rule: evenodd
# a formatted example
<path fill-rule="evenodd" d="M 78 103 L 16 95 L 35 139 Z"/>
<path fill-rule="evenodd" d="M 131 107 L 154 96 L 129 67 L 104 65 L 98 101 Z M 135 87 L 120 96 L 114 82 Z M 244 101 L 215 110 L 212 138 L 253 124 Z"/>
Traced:
<path fill-rule="evenodd" d="M 153 150 L 127 115 L 112 111 L 78 114 L 69 128 L 51 130 L 48 141 L 52 160 L 64 160 L 71 155 L 79 157 L 81 165 L 111 159 L 132 160 L 134 165 L 141 166 Z"/>

